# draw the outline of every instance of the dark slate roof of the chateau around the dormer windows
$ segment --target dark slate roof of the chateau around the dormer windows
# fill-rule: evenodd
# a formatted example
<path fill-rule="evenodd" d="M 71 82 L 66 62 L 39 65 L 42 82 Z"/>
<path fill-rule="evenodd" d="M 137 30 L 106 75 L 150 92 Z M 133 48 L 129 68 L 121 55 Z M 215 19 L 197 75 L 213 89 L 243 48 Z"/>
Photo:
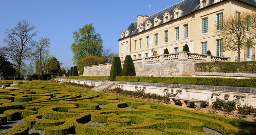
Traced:
<path fill-rule="evenodd" d="M 226 1 L 226 0 L 222 0 L 221 2 L 223 2 L 223 1 Z M 255 2 L 254 0 L 235 0 L 235 1 L 238 1 L 238 2 L 241 2 L 241 3 L 248 4 L 248 5 L 250 5 L 250 6 L 256 7 L 256 2 Z M 213 4 L 215 4 L 215 3 L 214 3 L 214 0 L 209 0 L 209 3 L 208 3 L 208 5 L 207 5 L 206 7 L 211 6 L 211 5 L 213 5 Z M 151 21 L 151 22 L 152 22 L 152 25 L 151 25 L 150 28 L 153 28 L 153 27 L 154 27 L 154 23 L 153 23 L 153 22 L 154 22 L 154 18 L 155 18 L 156 16 L 157 16 L 157 17 L 160 17 L 160 18 L 162 19 L 162 18 L 163 18 L 163 14 L 164 14 L 166 11 L 169 12 L 169 13 L 171 13 L 171 14 L 173 15 L 173 10 L 174 10 L 176 7 L 179 7 L 179 8 L 181 8 L 181 9 L 184 10 L 183 13 L 181 14 L 181 16 L 179 17 L 179 18 L 181 18 L 181 17 L 183 17 L 183 16 L 192 14 L 194 11 L 200 10 L 200 0 L 182 0 L 181 2 L 178 2 L 178 3 L 176 3 L 176 4 L 174 4 L 174 5 L 170 6 L 170 7 L 168 7 L 168 8 L 166 8 L 166 9 L 163 9 L 163 10 L 157 12 L 157 13 L 154 13 L 154 14 L 150 15 L 150 16 L 147 18 L 148 21 Z M 145 20 L 145 21 L 143 22 L 143 25 L 145 25 L 145 22 L 146 22 L 147 20 Z M 173 17 L 172 17 L 169 21 L 172 21 L 172 20 L 173 20 Z M 159 25 L 161 25 L 161 24 L 163 24 L 163 19 L 162 19 L 162 21 L 160 22 Z M 150 28 L 149 28 L 149 29 L 150 29 Z M 139 29 L 137 29 L 137 22 L 136 22 L 136 21 L 133 21 L 133 22 L 131 23 L 131 25 L 128 27 L 128 30 L 130 30 L 130 32 L 129 32 L 129 35 L 127 35 L 127 36 L 131 36 L 131 35 L 137 34 L 137 33 L 139 32 Z M 144 30 L 145 30 L 145 28 L 144 28 Z M 126 37 L 127 37 L 127 36 L 126 36 Z M 121 39 L 121 38 L 120 38 L 120 39 Z"/>

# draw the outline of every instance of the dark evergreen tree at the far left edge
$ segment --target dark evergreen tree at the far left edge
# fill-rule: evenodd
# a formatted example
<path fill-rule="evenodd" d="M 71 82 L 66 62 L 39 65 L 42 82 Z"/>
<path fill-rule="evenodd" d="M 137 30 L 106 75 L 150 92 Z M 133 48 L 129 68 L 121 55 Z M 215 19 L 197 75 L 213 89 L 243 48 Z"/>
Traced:
<path fill-rule="evenodd" d="M 8 76 L 15 75 L 16 69 L 6 60 L 4 55 L 0 55 L 0 75 L 7 79 Z"/>

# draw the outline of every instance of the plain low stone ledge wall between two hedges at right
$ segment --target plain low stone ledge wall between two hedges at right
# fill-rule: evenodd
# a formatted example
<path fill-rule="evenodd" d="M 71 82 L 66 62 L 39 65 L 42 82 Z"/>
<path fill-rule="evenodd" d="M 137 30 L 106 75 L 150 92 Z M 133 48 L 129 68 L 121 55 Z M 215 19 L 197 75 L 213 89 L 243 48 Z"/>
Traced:
<path fill-rule="evenodd" d="M 216 73 L 216 72 L 195 72 L 192 73 L 193 77 L 224 77 L 224 78 L 256 78 L 256 74 L 246 73 Z"/>

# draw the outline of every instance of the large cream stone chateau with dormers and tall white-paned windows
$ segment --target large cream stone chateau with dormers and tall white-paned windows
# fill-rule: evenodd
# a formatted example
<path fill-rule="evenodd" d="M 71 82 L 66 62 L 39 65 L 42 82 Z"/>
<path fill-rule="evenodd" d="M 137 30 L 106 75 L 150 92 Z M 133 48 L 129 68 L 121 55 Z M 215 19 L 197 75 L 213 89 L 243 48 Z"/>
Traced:
<path fill-rule="evenodd" d="M 150 16 L 138 15 L 119 41 L 119 57 L 134 60 L 159 56 L 167 48 L 169 53 L 181 52 L 185 44 L 190 52 L 230 57 L 237 61 L 237 52 L 223 52 L 221 29 L 223 17 L 255 11 L 254 0 L 183 0 Z M 255 47 L 241 50 L 240 61 L 255 61 Z M 135 61 L 136 63 L 136 61 Z"/>

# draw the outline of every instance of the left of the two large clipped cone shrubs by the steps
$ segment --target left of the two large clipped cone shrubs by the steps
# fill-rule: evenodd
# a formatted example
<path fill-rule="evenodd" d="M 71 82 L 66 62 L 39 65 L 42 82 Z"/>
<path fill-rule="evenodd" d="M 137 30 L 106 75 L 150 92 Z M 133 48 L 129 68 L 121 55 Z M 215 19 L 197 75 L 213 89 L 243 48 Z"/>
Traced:
<path fill-rule="evenodd" d="M 121 60 L 119 57 L 114 57 L 112 60 L 112 66 L 110 69 L 110 76 L 113 76 L 113 81 L 115 81 L 116 76 L 121 76 L 121 74 L 122 74 Z"/>

